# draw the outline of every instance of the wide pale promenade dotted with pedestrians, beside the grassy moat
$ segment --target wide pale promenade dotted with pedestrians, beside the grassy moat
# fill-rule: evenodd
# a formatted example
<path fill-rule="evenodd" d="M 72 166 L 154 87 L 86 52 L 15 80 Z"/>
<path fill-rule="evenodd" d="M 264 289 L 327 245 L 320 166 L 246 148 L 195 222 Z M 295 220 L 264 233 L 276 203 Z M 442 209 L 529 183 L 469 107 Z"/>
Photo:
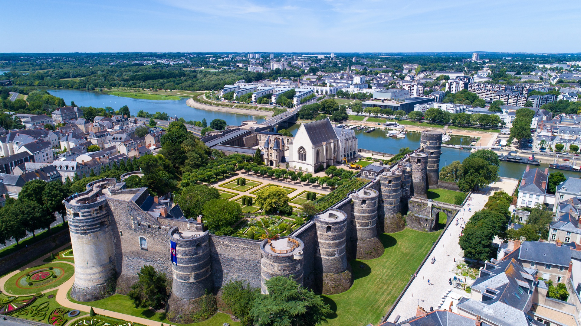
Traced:
<path fill-rule="evenodd" d="M 460 211 L 456 216 L 460 223 L 456 225 L 455 219 L 451 222 L 446 231 L 444 231 L 444 234 L 442 238 L 440 238 L 440 241 L 437 242 L 431 257 L 429 257 L 424 266 L 421 267 L 417 277 L 415 277 L 410 287 L 407 288 L 407 291 L 401 298 L 400 302 L 397 303 L 396 308 L 388 317 L 388 321 L 393 322 L 398 315 L 400 316 L 400 321 L 414 317 L 418 306 L 423 307 L 426 311 L 429 311 L 430 307 L 437 310 L 440 303 L 442 303 L 443 296 L 447 294 L 448 291 L 453 291 L 469 298 L 469 294 L 462 289 L 454 288 L 453 285 L 450 285 L 448 282 L 449 278 L 454 278 L 454 276 L 456 276 L 456 273 L 454 272 L 456 266 L 464 262 L 464 251 L 462 251 L 458 244 L 458 238 L 460 237 L 462 230 L 461 227 L 468 222 L 475 212 L 484 207 L 488 197 L 494 194 L 494 191 L 504 190 L 505 192 L 512 194 L 515 187 L 517 187 L 517 184 L 518 180 L 503 179 L 500 182 L 493 183 L 486 191 L 472 193 L 470 196 L 471 199 L 466 202 L 464 207 L 462 207 L 462 211 Z M 470 212 L 468 211 L 469 208 Z M 433 264 L 431 263 L 432 257 L 436 258 L 436 262 Z M 456 259 L 455 262 L 454 259 Z M 473 280 L 468 278 L 467 281 L 468 284 L 471 284 Z M 442 307 L 442 309 L 447 308 L 447 306 Z"/>

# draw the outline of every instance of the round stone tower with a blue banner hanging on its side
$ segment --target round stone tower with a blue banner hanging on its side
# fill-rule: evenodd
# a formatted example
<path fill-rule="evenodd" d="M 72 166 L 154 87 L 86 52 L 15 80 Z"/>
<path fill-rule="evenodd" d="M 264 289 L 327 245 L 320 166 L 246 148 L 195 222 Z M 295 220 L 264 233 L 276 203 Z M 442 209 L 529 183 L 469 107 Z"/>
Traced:
<path fill-rule="evenodd" d="M 206 289 L 213 286 L 208 231 L 180 231 L 175 226 L 170 229 L 168 236 L 173 276 L 171 295 L 180 299 L 199 298 L 206 293 Z"/>

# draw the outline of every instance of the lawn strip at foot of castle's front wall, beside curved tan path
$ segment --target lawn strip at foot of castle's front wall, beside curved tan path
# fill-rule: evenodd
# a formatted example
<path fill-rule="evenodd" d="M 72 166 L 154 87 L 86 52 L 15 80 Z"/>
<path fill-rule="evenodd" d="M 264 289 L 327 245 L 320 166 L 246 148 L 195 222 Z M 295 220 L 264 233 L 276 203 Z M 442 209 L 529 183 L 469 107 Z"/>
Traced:
<path fill-rule="evenodd" d="M 105 310 L 116 311 L 118 313 L 129 314 L 131 316 L 141 317 L 141 318 L 148 318 L 150 320 L 159 321 L 160 323 L 170 323 L 169 320 L 166 319 L 165 313 L 156 313 L 153 310 L 145 309 L 145 308 L 135 308 L 133 301 L 126 295 L 121 294 L 114 294 L 109 298 L 96 300 L 93 302 L 77 302 L 71 298 L 69 298 L 72 302 L 80 303 L 81 305 L 92 306 L 96 308 L 101 308 Z M 229 323 L 230 325 L 238 326 L 239 323 L 235 323 L 231 320 L 228 314 L 224 313 L 217 313 L 210 319 L 206 321 L 202 321 L 201 323 L 193 323 L 193 324 L 185 324 L 185 325 L 195 325 L 195 326 L 218 326 L 224 323 Z M 184 325 L 184 324 L 176 324 L 171 323 L 172 325 Z"/>

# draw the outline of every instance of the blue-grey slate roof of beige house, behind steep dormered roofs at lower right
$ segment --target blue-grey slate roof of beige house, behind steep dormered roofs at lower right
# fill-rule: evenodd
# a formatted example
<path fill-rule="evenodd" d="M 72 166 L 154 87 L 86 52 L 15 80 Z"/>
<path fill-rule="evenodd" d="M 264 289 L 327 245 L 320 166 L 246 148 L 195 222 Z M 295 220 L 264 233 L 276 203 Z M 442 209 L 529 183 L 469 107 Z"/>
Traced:
<path fill-rule="evenodd" d="M 549 242 L 525 241 L 518 249 L 518 259 L 551 264 L 557 266 L 569 266 L 571 262 L 571 249 L 569 247 L 557 247 Z"/>

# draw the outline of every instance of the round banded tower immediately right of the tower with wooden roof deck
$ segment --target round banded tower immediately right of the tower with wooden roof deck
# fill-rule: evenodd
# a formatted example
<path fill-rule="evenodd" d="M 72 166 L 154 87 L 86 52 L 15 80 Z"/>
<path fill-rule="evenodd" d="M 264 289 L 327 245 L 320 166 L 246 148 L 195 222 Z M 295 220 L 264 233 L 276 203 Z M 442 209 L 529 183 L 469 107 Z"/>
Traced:
<path fill-rule="evenodd" d="M 349 217 L 347 213 L 331 208 L 316 215 L 314 222 L 318 243 L 315 259 L 322 271 L 322 293 L 345 292 L 353 284 L 345 251 Z"/>

